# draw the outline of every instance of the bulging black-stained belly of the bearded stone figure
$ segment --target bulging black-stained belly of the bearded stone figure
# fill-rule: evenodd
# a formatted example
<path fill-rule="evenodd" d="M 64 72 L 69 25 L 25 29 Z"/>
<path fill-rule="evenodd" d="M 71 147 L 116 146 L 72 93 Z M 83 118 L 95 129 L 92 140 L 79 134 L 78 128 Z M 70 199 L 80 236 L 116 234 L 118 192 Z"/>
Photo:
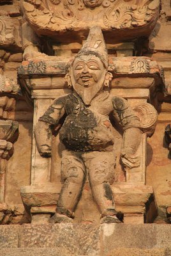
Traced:
<path fill-rule="evenodd" d="M 103 151 L 114 144 L 110 129 L 96 122 L 82 122 L 66 118 L 59 132 L 59 138 L 66 148 L 74 151 Z"/>

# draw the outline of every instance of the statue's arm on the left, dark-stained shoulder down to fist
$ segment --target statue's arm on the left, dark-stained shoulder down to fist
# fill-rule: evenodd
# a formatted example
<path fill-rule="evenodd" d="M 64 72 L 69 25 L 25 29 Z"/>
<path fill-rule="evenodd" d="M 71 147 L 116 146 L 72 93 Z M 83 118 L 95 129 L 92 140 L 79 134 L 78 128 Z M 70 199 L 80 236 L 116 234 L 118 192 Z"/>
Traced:
<path fill-rule="evenodd" d="M 59 124 L 60 119 L 65 113 L 65 98 L 61 97 L 54 100 L 53 104 L 38 120 L 35 127 L 35 140 L 40 155 L 43 157 L 51 156 L 52 127 Z"/>

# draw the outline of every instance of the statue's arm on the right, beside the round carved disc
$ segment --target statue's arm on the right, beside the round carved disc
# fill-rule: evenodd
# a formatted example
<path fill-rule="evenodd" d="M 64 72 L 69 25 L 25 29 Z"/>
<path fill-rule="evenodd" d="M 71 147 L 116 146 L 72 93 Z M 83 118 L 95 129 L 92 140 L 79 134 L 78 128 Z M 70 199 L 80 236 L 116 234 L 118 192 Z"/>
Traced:
<path fill-rule="evenodd" d="M 140 120 L 130 108 L 127 100 L 113 97 L 114 118 L 123 127 L 123 141 L 121 145 L 121 160 L 124 167 L 134 168 L 140 165 L 136 152 L 142 140 Z"/>

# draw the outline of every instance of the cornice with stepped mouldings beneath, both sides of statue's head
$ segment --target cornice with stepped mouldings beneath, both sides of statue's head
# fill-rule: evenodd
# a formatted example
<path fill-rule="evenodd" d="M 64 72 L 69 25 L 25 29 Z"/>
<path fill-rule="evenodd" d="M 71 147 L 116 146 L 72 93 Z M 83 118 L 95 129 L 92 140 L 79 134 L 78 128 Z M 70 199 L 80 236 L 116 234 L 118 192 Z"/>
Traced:
<path fill-rule="evenodd" d="M 27 99 L 29 101 L 33 99 L 31 97 L 32 90 L 68 88 L 64 77 L 68 72 L 68 64 L 71 61 L 73 61 L 71 58 L 62 60 L 56 56 L 22 61 L 22 65 L 18 70 L 18 76 L 22 92 L 27 96 Z M 156 92 L 165 92 L 163 68 L 151 58 L 109 57 L 108 72 L 112 73 L 113 76 L 112 88 L 121 87 L 125 90 L 129 90 L 129 88 L 146 88 L 150 90 L 147 93 L 147 98 L 150 94 L 151 100 L 155 97 Z M 143 80 L 138 80 L 142 77 L 144 77 Z M 126 81 L 125 79 L 128 81 L 121 83 L 122 85 L 118 87 L 120 79 L 121 81 Z M 133 86 L 131 86 L 132 83 Z M 135 83 L 140 83 L 140 85 Z"/>

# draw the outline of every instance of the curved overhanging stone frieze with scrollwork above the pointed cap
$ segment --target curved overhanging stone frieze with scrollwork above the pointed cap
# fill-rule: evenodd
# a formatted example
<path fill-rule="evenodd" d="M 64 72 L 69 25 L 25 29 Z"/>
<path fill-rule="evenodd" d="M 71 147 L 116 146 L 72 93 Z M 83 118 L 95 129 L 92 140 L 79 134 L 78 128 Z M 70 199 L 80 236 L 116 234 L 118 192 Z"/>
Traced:
<path fill-rule="evenodd" d="M 159 5 L 159 0 L 152 0 L 149 4 L 145 0 L 138 3 L 135 0 L 23 1 L 26 19 L 36 33 L 54 37 L 60 35 L 57 40 L 65 42 L 70 38 L 64 34 L 67 31 L 74 34 L 75 29 L 80 31 L 77 38 L 85 38 L 92 23 L 101 26 L 104 35 L 113 30 L 112 40 L 118 40 L 116 35 L 122 35 L 122 40 L 132 38 L 136 29 L 138 36 L 149 35 L 158 19 Z M 126 33 L 123 33 L 123 29 L 126 29 Z"/>

